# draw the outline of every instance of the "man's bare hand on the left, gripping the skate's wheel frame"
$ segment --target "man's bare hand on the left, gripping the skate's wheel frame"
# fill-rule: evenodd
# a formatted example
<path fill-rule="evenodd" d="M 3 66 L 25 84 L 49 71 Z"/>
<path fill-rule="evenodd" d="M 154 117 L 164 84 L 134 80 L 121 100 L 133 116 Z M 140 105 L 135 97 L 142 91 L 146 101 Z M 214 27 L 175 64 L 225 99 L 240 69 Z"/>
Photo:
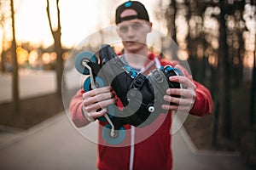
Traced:
<path fill-rule="evenodd" d="M 96 88 L 85 92 L 83 94 L 84 114 L 94 120 L 103 116 L 107 112 L 107 106 L 117 102 L 114 96 L 111 87 Z"/>

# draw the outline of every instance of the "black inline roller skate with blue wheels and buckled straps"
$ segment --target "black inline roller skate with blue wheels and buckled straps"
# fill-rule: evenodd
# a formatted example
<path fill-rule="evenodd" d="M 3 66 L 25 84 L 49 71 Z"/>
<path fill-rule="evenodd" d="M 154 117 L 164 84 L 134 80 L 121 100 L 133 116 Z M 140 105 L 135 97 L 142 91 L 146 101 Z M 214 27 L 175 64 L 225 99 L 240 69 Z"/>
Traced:
<path fill-rule="evenodd" d="M 76 56 L 75 67 L 81 74 L 89 75 L 84 81 L 84 92 L 111 86 L 124 106 L 120 110 L 117 105 L 108 105 L 107 113 L 98 118 L 108 122 L 102 129 L 108 144 L 119 144 L 125 139 L 125 124 L 145 127 L 154 122 L 160 113 L 166 112 L 160 107 L 166 102 L 163 101 L 166 89 L 182 88 L 180 83 L 168 81 L 170 76 L 182 75 L 171 65 L 144 75 L 125 65 L 109 45 L 102 45 L 98 58 L 88 51 L 81 52 Z"/>

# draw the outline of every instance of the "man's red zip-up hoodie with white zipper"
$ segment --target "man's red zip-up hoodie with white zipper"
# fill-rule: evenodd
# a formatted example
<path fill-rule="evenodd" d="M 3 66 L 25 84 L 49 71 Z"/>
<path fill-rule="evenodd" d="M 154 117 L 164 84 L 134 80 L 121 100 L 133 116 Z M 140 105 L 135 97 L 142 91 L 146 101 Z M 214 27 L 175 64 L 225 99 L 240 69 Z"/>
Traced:
<path fill-rule="evenodd" d="M 148 59 L 156 59 L 160 61 L 160 65 L 176 65 L 176 63 L 169 63 L 159 57 L 154 57 L 154 54 L 148 54 Z M 185 72 L 185 76 L 189 77 L 189 74 Z M 199 82 L 193 82 L 196 85 L 196 99 L 189 114 L 195 116 L 210 114 L 212 111 L 210 92 Z M 79 90 L 70 102 L 70 114 L 77 127 L 83 127 L 86 122 L 81 109 L 82 93 Z M 100 144 L 98 144 L 97 167 L 102 170 L 172 169 L 171 126 L 172 111 L 169 111 L 168 114 L 161 114 L 148 127 L 139 128 L 125 125 L 125 129 L 127 129 L 125 130 L 125 140 L 120 144 L 125 146 L 122 147 L 104 144 L 105 140 L 101 135 L 102 126 L 99 126 Z"/>

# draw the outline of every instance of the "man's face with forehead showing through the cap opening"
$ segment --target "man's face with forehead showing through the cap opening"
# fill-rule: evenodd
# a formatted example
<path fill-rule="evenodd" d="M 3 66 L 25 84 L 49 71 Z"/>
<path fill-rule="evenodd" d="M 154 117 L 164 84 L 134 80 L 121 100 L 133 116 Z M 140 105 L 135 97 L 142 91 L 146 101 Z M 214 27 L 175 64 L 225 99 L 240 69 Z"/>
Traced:
<path fill-rule="evenodd" d="M 125 9 L 121 17 L 135 15 L 133 9 Z M 133 19 L 124 20 L 118 25 L 119 37 L 121 37 L 124 48 L 129 53 L 136 53 L 146 45 L 147 34 L 151 31 L 152 24 L 147 20 Z"/>

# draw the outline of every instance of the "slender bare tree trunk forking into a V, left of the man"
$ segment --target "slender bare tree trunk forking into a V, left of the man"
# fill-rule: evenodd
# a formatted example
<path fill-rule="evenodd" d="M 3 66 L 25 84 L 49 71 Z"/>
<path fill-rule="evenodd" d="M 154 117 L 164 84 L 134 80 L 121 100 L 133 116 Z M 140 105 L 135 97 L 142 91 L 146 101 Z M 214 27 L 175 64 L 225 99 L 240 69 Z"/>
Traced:
<path fill-rule="evenodd" d="M 57 8 L 57 28 L 54 30 L 52 26 L 52 21 L 50 20 L 50 14 L 49 14 L 49 0 L 47 0 L 47 16 L 49 20 L 49 28 L 52 34 L 52 37 L 54 38 L 54 46 L 55 46 L 55 52 L 57 54 L 56 59 L 56 65 L 55 65 L 55 71 L 57 75 L 57 94 L 61 96 L 61 82 L 62 82 L 62 71 L 63 71 L 63 49 L 61 45 L 61 16 L 60 16 L 60 8 L 59 8 L 59 0 L 56 0 L 56 8 Z M 65 84 L 63 84 L 65 85 Z"/>

